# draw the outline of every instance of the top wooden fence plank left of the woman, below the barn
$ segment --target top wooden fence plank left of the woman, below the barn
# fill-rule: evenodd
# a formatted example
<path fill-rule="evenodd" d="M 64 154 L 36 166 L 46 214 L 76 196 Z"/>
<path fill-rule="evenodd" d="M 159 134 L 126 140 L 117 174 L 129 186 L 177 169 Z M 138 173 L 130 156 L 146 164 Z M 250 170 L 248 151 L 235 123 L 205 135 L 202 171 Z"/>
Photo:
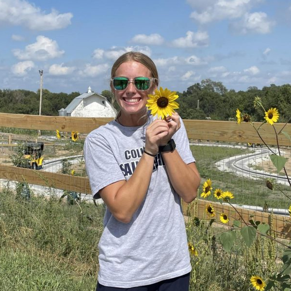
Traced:
<path fill-rule="evenodd" d="M 89 133 L 113 118 L 44 116 L 0 113 L 0 126 L 20 129 L 78 131 Z"/>

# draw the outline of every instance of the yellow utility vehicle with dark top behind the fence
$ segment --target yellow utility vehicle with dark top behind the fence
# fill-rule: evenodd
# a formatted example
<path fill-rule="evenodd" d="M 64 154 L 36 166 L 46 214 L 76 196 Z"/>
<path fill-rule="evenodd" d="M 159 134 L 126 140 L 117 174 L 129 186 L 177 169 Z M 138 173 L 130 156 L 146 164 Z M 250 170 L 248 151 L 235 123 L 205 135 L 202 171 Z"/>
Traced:
<path fill-rule="evenodd" d="M 45 167 L 45 161 L 42 157 L 44 143 L 26 143 L 24 149 L 24 158 L 27 160 L 26 166 L 30 169 L 40 170 Z"/>

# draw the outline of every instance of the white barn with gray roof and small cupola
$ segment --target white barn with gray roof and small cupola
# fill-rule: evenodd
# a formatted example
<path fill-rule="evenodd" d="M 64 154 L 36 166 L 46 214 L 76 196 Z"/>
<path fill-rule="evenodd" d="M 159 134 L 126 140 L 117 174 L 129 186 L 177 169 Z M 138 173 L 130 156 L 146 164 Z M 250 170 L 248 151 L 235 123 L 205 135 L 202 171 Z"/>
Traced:
<path fill-rule="evenodd" d="M 116 110 L 106 97 L 92 92 L 91 87 L 87 93 L 74 98 L 65 109 L 59 110 L 61 116 L 75 117 L 115 117 L 116 114 Z"/>

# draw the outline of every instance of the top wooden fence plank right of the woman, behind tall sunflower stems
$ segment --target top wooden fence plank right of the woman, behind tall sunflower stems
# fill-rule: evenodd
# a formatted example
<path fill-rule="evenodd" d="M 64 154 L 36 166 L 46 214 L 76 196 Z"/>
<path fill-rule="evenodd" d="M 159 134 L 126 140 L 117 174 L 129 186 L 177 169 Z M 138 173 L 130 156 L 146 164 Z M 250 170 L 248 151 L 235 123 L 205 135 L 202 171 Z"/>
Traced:
<path fill-rule="evenodd" d="M 214 121 L 214 120 L 183 120 L 189 139 L 224 141 L 236 143 L 258 143 L 262 144 L 258 133 L 250 123 L 237 124 L 233 121 Z M 258 129 L 261 123 L 254 123 Z M 279 132 L 285 124 L 275 124 L 275 129 Z M 291 136 L 291 124 L 287 124 L 284 131 Z M 275 145 L 275 131 L 270 124 L 264 124 L 259 129 L 259 133 L 267 145 Z M 279 145 L 290 146 L 290 140 L 284 135 L 279 134 Z"/>

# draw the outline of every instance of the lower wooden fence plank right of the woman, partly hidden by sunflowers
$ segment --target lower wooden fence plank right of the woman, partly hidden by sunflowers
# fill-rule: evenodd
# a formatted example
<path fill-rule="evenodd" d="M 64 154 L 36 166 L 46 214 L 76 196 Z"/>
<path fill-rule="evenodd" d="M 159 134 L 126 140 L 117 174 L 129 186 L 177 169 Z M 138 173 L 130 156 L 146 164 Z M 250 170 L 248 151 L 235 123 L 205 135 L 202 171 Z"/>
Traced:
<path fill-rule="evenodd" d="M 260 221 L 261 223 L 264 222 L 269 225 L 271 223 L 271 214 L 268 212 L 236 208 L 236 210 L 238 210 L 242 216 L 241 218 L 241 216 L 229 204 L 220 204 L 203 199 L 195 199 L 194 203 L 191 204 L 187 204 L 186 202 L 182 201 L 183 214 L 186 216 L 196 216 L 199 219 L 209 219 L 205 213 L 205 207 L 209 203 L 211 203 L 214 208 L 215 216 L 212 218 L 215 219 L 216 222 L 220 222 L 220 213 L 225 212 L 229 215 L 229 222 L 226 224 L 228 226 L 232 226 L 234 220 L 240 220 L 242 222 L 242 226 L 244 226 L 242 218 L 246 223 L 248 223 L 251 218 L 253 218 L 254 221 Z M 273 214 L 273 227 L 278 238 L 291 238 L 291 223 L 289 220 L 289 216 Z"/>

